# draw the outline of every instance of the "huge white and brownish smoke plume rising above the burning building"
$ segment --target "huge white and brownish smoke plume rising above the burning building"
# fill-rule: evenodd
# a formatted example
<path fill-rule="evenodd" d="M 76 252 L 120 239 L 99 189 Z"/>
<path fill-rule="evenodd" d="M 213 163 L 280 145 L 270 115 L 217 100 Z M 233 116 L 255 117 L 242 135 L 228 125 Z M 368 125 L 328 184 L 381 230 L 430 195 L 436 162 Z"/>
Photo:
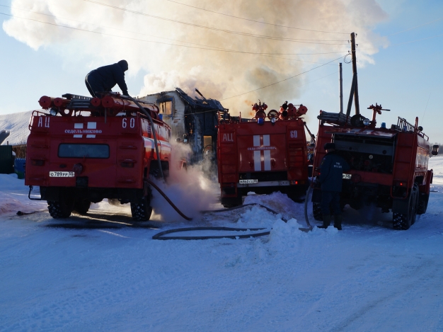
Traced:
<path fill-rule="evenodd" d="M 344 56 L 350 50 L 347 40 L 351 32 L 358 34 L 357 59 L 360 66 L 372 63 L 372 55 L 378 52 L 379 47 L 387 45 L 385 38 L 372 31 L 376 23 L 386 19 L 386 13 L 376 0 L 178 1 L 188 6 L 168 0 L 12 0 L 11 14 L 15 17 L 5 21 L 3 28 L 8 35 L 35 50 L 47 47 L 68 63 L 83 62 L 85 68 L 82 70 L 85 73 L 103 64 L 126 59 L 130 64 L 129 75 L 139 71 L 146 73 L 144 86 L 130 87 L 130 93 L 135 96 L 168 91 L 176 86 L 193 95 L 197 87 L 207 98 L 221 100 L 234 115 L 238 112 L 248 113 L 251 104 L 258 99 L 265 101 L 270 108 L 277 108 L 283 101 L 297 103 L 300 97 L 297 86 L 303 84 L 303 75 L 255 92 L 242 93 L 320 65 L 315 62 L 325 63 Z M 307 30 L 282 28 L 231 16 Z M 177 21 L 311 41 L 270 40 L 199 28 Z M 318 40 L 338 40 L 326 43 L 342 45 L 316 44 L 322 42 Z M 207 47 L 248 53 L 201 49 Z M 272 55 L 257 55 L 259 52 Z M 326 54 L 294 55 L 302 53 Z M 237 95 L 241 96 L 230 98 Z"/>

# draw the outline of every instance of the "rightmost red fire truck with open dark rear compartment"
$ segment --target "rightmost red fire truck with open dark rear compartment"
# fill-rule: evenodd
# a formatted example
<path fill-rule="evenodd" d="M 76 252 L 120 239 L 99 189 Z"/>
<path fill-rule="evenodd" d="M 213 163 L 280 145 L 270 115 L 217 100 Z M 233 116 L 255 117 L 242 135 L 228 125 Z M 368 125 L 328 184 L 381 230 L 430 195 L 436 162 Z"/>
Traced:
<path fill-rule="evenodd" d="M 341 205 L 359 210 L 374 205 L 381 212 L 393 214 L 394 229 L 408 229 L 416 214 L 427 209 L 432 183 L 432 169 L 427 169 L 430 157 L 429 137 L 418 126 L 403 118 L 391 127 L 381 122 L 376 127 L 376 114 L 381 105 L 371 105 L 372 120 L 361 114 L 351 118 L 343 113 L 321 112 L 313 163 L 313 176 L 318 176 L 323 156 L 323 145 L 334 142 L 336 150 L 350 164 L 343 174 Z M 438 154 L 434 146 L 431 155 Z M 321 190 L 313 190 L 313 216 L 322 219 Z"/>

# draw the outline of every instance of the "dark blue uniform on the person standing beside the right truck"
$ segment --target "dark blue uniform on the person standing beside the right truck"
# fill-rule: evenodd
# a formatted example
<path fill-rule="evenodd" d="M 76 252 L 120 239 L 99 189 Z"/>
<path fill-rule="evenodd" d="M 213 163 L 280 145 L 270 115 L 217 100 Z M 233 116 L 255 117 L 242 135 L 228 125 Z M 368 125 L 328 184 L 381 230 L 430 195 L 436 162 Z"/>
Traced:
<path fill-rule="evenodd" d="M 350 170 L 349 164 L 335 151 L 330 151 L 321 161 L 321 213 L 331 214 L 329 206 L 332 205 L 335 215 L 341 214 L 340 193 L 342 191 L 343 172 Z"/>

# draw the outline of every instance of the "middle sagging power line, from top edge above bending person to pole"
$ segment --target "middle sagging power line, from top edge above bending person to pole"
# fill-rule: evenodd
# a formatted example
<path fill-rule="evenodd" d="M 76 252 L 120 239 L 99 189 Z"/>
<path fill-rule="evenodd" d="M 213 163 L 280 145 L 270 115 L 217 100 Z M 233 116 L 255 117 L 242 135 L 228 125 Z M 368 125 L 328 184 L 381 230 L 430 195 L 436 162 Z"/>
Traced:
<path fill-rule="evenodd" d="M 297 38 L 281 38 L 281 37 L 275 37 L 275 36 L 268 36 L 268 35 L 255 35 L 253 33 L 243 33 L 240 31 L 234 31 L 234 30 L 226 30 L 226 29 L 220 29 L 220 28 L 213 28 L 213 27 L 209 27 L 206 25 L 199 25 L 199 24 L 194 24 L 194 23 L 188 23 L 188 22 L 183 22 L 183 21 L 178 21 L 178 20 L 173 20 L 172 18 L 164 18 L 161 16 L 155 16 L 155 15 L 151 15 L 149 13 L 143 13 L 142 11 L 132 11 L 130 9 L 127 8 L 122 8 L 119 6 L 113 6 L 110 4 L 103 4 L 103 2 L 99 2 L 99 1 L 93 1 L 93 0 L 83 0 L 86 2 L 90 2 L 91 4 L 98 4 L 100 6 L 105 6 L 105 7 L 109 7 L 109 8 L 114 8 L 117 9 L 119 11 L 126 11 L 127 13 L 134 13 L 137 15 L 142 15 L 142 16 L 147 16 L 147 17 L 151 17 L 151 18 L 157 18 L 159 20 L 163 20 L 163 21 L 168 21 L 168 22 L 173 22 L 173 23 L 180 23 L 180 24 L 184 24 L 184 25 L 190 25 L 196 28 L 203 28 L 203 29 L 207 29 L 207 30 L 213 30 L 213 31 L 219 31 L 222 33 L 231 33 L 234 35 L 244 35 L 244 36 L 248 36 L 248 37 L 254 37 L 254 38 L 261 38 L 261 39 L 267 39 L 267 40 L 279 40 L 279 41 L 285 41 L 285 42 L 301 42 L 304 44 L 317 44 L 317 45 L 347 45 L 347 43 L 329 43 L 329 42 L 312 42 L 312 41 L 306 41 L 306 40 L 302 40 L 302 39 L 297 39 Z M 343 41 L 347 41 L 347 40 L 343 40 Z"/>

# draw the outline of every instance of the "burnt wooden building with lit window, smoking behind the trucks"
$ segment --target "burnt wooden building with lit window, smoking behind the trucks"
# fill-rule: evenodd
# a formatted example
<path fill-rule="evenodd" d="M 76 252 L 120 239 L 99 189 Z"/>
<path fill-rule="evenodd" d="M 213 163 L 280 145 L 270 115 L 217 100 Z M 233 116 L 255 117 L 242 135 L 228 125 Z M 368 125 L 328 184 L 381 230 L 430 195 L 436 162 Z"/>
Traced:
<path fill-rule="evenodd" d="M 217 116 L 224 111 L 222 104 L 211 98 L 190 97 L 180 88 L 175 91 L 154 93 L 141 100 L 155 103 L 172 131 L 174 139 L 190 144 L 192 156 L 190 164 L 203 159 L 207 150 L 214 151 L 217 147 Z"/>

